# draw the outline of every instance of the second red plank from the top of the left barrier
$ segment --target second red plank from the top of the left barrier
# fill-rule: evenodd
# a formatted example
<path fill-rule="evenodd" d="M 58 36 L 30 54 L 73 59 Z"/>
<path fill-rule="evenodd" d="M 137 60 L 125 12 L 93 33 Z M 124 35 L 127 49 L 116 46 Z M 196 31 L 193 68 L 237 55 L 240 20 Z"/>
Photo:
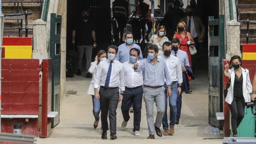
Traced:
<path fill-rule="evenodd" d="M 2 81 L 38 81 L 40 70 L 2 70 Z"/>

